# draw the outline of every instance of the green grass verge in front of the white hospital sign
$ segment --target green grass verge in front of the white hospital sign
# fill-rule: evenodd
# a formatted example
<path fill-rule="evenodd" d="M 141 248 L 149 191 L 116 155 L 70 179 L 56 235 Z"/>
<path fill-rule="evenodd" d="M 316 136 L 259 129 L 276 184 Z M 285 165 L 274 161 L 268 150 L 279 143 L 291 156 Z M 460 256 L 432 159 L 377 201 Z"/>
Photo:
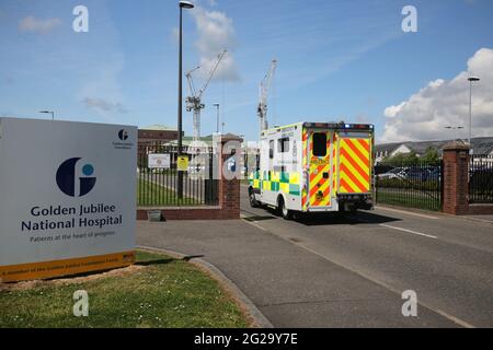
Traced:
<path fill-rule="evenodd" d="M 137 264 L 83 278 L 4 284 L 0 328 L 243 328 L 250 322 L 219 283 L 196 266 L 147 252 Z M 1 285 L 1 284 L 0 284 Z M 73 316 L 73 292 L 89 316 Z"/>

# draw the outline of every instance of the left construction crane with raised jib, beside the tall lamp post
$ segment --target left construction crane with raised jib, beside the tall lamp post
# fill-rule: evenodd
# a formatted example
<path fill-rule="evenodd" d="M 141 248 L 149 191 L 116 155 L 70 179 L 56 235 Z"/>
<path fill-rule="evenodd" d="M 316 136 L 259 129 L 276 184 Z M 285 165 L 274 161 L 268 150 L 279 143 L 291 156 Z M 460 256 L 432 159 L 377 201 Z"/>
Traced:
<path fill-rule="evenodd" d="M 188 81 L 188 90 L 190 90 L 190 97 L 186 97 L 186 112 L 194 113 L 194 142 L 199 141 L 200 139 L 200 110 L 205 108 L 205 104 L 202 103 L 202 96 L 204 95 L 205 91 L 207 90 L 207 86 L 213 80 L 214 74 L 216 74 L 217 68 L 225 58 L 226 52 L 227 50 L 223 50 L 218 55 L 216 63 L 213 66 L 213 69 L 202 89 L 199 90 L 195 89 L 194 80 L 192 78 L 192 73 L 202 68 L 200 66 L 192 69 L 190 72 L 185 74 Z"/>

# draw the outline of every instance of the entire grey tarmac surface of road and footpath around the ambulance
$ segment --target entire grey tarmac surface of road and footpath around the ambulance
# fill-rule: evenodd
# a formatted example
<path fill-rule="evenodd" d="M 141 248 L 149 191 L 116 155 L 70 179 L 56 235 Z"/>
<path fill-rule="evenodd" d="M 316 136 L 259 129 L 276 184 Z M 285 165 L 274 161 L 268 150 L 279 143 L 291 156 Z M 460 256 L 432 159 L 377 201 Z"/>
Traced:
<path fill-rule="evenodd" d="M 379 208 L 285 221 L 138 223 L 137 242 L 217 267 L 274 327 L 493 327 L 493 224 Z M 404 317 L 402 292 L 416 292 Z"/>

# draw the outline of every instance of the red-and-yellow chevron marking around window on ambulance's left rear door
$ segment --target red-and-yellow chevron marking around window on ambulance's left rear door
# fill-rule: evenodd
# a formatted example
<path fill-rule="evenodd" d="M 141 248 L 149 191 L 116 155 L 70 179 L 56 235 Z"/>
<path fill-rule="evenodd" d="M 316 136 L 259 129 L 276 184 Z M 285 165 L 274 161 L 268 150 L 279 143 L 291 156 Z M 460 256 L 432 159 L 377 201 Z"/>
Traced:
<path fill-rule="evenodd" d="M 310 136 L 310 143 L 312 142 L 312 135 Z M 324 178 L 323 174 L 330 174 L 331 172 L 331 138 L 326 140 L 326 155 L 323 159 L 312 156 L 310 159 L 310 192 L 309 203 L 310 207 L 330 207 L 331 206 L 331 180 Z"/>

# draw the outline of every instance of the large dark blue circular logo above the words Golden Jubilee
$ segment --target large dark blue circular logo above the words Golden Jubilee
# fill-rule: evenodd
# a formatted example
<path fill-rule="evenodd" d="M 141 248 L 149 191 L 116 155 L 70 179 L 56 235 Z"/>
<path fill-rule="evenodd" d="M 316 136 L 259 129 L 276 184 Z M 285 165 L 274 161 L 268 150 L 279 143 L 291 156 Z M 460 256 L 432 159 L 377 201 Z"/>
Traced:
<path fill-rule="evenodd" d="M 94 166 L 91 164 L 82 166 L 82 174 L 76 174 L 76 165 L 80 160 L 81 158 L 71 158 L 61 163 L 57 171 L 58 188 L 70 197 L 85 196 L 94 188 L 96 183 L 96 178 L 91 177 L 94 174 Z"/>

